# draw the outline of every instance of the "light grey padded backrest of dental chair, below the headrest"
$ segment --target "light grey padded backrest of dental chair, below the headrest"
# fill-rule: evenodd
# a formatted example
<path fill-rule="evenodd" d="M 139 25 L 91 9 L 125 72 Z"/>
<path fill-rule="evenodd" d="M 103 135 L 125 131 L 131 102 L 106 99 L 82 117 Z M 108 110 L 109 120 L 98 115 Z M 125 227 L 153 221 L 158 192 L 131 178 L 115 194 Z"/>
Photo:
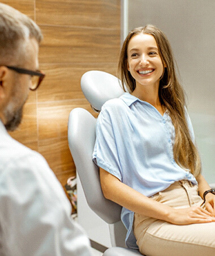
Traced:
<path fill-rule="evenodd" d="M 68 119 L 68 145 L 89 207 L 106 223 L 120 220 L 121 207 L 104 198 L 98 167 L 92 161 L 96 119 L 83 108 L 74 108 Z"/>

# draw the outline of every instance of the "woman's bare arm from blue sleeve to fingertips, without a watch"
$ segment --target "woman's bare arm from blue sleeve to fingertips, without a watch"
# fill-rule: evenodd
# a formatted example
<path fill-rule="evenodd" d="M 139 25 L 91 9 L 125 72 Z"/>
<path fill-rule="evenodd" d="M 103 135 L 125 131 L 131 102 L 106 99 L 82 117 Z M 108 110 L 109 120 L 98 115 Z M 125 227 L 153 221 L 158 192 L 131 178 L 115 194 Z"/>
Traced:
<path fill-rule="evenodd" d="M 156 202 L 123 184 L 102 168 L 100 168 L 100 181 L 105 198 L 130 211 L 178 225 L 215 221 L 215 217 L 201 207 L 175 209 Z"/>

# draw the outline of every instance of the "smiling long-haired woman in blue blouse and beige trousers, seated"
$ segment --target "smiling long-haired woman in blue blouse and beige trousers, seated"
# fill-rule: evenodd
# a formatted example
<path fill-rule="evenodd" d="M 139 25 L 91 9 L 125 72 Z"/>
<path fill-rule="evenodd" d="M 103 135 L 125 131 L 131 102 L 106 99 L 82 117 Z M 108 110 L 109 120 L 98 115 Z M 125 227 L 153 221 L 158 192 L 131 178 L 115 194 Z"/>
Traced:
<path fill-rule="evenodd" d="M 129 93 L 102 106 L 93 160 L 105 198 L 123 206 L 127 246 L 147 256 L 215 255 L 215 195 L 164 33 L 131 31 L 119 73 Z"/>

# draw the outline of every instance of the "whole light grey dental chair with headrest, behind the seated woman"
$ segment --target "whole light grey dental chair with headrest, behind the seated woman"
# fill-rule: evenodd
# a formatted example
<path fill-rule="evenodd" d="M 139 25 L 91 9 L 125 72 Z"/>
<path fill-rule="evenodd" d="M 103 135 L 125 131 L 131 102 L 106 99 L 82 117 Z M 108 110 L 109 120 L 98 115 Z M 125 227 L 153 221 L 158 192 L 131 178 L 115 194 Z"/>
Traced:
<path fill-rule="evenodd" d="M 119 82 L 114 75 L 92 70 L 81 77 L 81 90 L 93 110 L 99 112 L 106 100 L 118 98 L 124 93 Z M 121 221 L 122 207 L 104 198 L 99 170 L 92 161 L 95 140 L 96 118 L 83 108 L 74 108 L 68 118 L 68 145 L 76 171 L 89 207 L 106 223 L 112 224 L 109 226 L 113 247 L 107 249 L 103 255 L 141 255 L 138 250 L 127 249 L 124 245 L 127 230 Z"/>

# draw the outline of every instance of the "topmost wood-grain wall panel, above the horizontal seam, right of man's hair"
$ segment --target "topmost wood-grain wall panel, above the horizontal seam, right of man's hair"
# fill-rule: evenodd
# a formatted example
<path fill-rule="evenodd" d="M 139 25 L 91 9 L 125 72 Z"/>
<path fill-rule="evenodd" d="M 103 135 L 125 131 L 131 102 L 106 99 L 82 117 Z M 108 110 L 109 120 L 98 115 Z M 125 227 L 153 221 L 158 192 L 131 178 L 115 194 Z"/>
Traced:
<path fill-rule="evenodd" d="M 120 29 L 118 0 L 37 0 L 36 22 L 75 27 Z"/>

